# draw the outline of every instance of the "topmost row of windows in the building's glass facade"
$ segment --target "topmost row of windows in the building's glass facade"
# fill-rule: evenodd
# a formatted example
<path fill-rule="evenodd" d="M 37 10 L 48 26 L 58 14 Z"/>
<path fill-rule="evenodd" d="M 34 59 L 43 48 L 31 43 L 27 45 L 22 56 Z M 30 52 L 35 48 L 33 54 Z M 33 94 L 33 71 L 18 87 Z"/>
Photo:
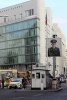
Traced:
<path fill-rule="evenodd" d="M 7 33 L 7 32 L 13 32 L 22 29 L 39 27 L 39 24 L 37 24 L 37 22 L 39 22 L 38 19 L 31 19 L 31 20 L 26 20 L 26 21 L 2 26 L 0 27 L 0 33 Z"/>

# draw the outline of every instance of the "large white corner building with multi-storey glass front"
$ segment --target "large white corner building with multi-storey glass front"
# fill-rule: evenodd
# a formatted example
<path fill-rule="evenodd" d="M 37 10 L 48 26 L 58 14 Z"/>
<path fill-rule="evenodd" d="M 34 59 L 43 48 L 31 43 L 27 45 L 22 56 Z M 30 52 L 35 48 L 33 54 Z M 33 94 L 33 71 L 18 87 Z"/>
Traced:
<path fill-rule="evenodd" d="M 28 70 L 45 65 L 44 0 L 30 0 L 0 9 L 0 68 Z"/>

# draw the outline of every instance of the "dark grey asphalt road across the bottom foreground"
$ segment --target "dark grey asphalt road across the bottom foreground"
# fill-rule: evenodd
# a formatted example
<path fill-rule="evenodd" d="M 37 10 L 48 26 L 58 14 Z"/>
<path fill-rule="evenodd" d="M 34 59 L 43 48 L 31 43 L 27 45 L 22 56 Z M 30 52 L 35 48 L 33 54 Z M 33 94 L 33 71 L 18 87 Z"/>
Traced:
<path fill-rule="evenodd" d="M 59 92 L 0 89 L 0 100 L 67 100 L 67 83 Z"/>

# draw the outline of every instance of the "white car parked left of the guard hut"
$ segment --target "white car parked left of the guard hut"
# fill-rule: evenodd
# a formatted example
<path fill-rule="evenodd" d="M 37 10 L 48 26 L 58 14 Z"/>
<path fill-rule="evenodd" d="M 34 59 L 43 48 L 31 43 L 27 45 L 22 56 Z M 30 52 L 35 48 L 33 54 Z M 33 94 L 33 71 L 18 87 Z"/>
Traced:
<path fill-rule="evenodd" d="M 12 78 L 8 88 L 22 88 L 22 78 Z"/>

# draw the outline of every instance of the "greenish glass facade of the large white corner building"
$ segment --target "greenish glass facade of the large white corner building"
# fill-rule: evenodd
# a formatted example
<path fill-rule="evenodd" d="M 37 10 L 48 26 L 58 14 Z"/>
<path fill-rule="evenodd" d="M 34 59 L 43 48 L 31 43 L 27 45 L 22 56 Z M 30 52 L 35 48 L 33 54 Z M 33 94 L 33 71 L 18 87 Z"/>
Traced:
<path fill-rule="evenodd" d="M 39 59 L 39 19 L 0 27 L 0 65 L 27 64 Z"/>

